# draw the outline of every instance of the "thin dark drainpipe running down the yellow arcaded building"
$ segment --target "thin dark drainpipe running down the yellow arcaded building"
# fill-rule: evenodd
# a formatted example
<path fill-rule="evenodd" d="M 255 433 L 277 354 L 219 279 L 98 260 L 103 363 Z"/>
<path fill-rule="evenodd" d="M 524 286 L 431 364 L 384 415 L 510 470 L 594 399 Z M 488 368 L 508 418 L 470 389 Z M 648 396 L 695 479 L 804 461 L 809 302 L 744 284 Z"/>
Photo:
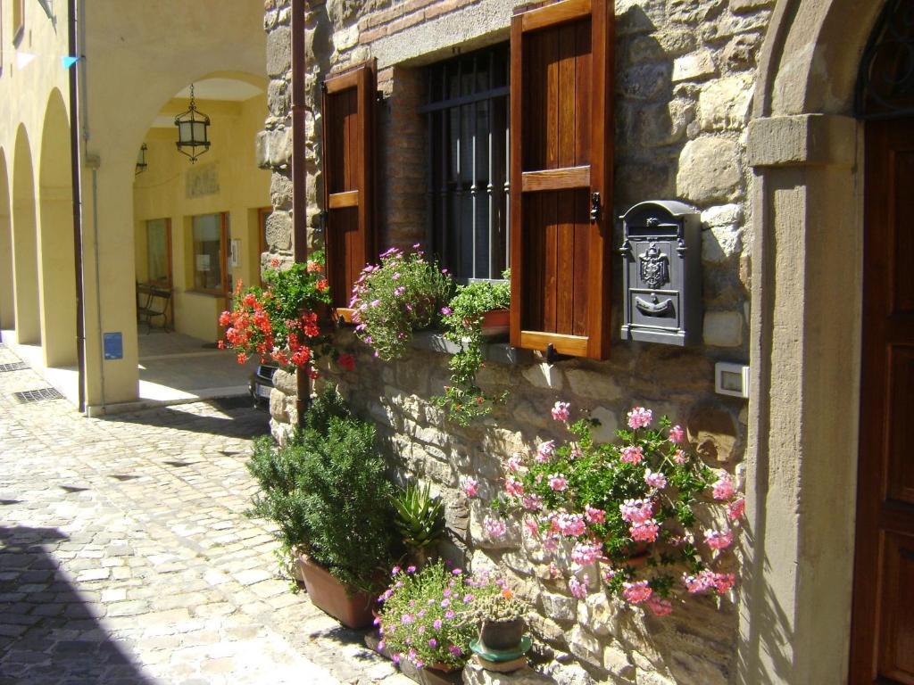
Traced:
<path fill-rule="evenodd" d="M 82 68 L 76 39 L 76 0 L 67 3 L 67 41 L 69 55 L 80 58 L 69 68 L 69 159 L 73 186 L 73 260 L 76 268 L 76 360 L 79 365 L 80 413 L 86 411 L 86 321 L 83 311 L 82 274 L 82 183 L 80 177 L 80 99 L 78 72 Z"/>

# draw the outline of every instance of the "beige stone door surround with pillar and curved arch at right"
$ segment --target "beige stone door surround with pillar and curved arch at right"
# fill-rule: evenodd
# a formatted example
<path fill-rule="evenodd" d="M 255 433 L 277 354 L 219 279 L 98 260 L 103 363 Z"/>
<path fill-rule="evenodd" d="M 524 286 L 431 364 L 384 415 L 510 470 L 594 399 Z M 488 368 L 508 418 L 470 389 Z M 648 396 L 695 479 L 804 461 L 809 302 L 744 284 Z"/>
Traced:
<path fill-rule="evenodd" d="M 882 5 L 780 0 L 760 58 L 744 683 L 847 680 L 863 245 L 853 95 Z"/>

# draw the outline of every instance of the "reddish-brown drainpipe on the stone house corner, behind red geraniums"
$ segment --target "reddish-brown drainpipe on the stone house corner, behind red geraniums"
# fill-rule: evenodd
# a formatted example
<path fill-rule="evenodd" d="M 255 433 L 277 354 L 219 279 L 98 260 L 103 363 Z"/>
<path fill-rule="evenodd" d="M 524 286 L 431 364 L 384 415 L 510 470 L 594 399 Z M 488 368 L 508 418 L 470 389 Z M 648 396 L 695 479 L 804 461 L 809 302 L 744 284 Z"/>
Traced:
<path fill-rule="evenodd" d="M 308 259 L 308 200 L 304 173 L 304 3 L 305 0 L 292 0 L 292 242 L 296 262 Z M 301 426 L 311 399 L 311 385 L 307 374 L 302 371 L 295 376 L 298 395 L 295 406 Z"/>

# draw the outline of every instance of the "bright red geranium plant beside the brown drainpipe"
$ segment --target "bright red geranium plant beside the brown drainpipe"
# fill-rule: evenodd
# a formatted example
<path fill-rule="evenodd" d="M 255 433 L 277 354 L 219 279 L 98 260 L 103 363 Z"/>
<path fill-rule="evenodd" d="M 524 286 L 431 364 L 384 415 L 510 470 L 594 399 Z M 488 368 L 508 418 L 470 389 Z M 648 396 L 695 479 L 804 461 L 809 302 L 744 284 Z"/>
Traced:
<path fill-rule="evenodd" d="M 319 322 L 330 304 L 330 290 L 324 277 L 324 254 L 315 252 L 307 264 L 292 264 L 288 269 L 267 269 L 266 288 L 241 290 L 235 287 L 232 309 L 223 311 L 219 325 L 225 329 L 220 349 L 238 353 L 239 364 L 251 356 L 283 369 L 302 369 L 315 377 L 314 361 L 329 355 L 337 361 L 328 336 Z M 351 355 L 345 355 L 345 367 Z"/>

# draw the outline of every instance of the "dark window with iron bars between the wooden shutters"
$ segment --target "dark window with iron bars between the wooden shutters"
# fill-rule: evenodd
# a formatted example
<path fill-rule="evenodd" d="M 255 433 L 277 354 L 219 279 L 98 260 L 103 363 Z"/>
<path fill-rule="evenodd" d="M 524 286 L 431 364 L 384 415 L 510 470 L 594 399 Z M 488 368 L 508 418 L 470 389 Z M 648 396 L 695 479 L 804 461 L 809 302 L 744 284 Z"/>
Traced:
<path fill-rule="evenodd" d="M 508 44 L 428 68 L 426 243 L 462 281 L 508 263 Z"/>

